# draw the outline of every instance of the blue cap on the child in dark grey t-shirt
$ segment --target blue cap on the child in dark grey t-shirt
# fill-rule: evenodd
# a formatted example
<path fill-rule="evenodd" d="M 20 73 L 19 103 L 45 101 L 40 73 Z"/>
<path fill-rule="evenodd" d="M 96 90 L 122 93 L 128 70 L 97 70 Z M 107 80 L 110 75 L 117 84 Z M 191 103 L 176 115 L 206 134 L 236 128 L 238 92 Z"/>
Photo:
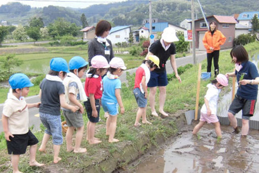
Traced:
<path fill-rule="evenodd" d="M 68 63 L 62 57 L 54 57 L 53 59 L 51 59 L 49 66 L 50 70 L 58 72 L 63 71 L 69 73 Z"/>

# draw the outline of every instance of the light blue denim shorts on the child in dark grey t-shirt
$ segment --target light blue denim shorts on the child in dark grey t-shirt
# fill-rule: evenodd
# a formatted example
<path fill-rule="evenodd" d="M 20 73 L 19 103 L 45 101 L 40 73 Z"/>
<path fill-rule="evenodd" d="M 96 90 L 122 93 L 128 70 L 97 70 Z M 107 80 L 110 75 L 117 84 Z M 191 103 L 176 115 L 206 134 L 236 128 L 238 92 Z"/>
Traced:
<path fill-rule="evenodd" d="M 46 127 L 45 133 L 52 135 L 52 142 L 54 145 L 61 145 L 63 143 L 61 118 L 59 115 L 53 115 L 40 112 L 41 122 Z"/>

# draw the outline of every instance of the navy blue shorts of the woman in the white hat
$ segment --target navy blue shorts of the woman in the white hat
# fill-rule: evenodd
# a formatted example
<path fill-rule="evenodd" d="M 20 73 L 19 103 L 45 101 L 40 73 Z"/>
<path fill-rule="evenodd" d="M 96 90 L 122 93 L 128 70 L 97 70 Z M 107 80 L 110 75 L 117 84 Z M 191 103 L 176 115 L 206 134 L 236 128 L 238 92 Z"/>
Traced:
<path fill-rule="evenodd" d="M 154 71 L 150 72 L 150 79 L 147 83 L 147 87 L 166 86 L 167 84 L 168 80 L 166 70 L 162 73 L 156 73 Z"/>

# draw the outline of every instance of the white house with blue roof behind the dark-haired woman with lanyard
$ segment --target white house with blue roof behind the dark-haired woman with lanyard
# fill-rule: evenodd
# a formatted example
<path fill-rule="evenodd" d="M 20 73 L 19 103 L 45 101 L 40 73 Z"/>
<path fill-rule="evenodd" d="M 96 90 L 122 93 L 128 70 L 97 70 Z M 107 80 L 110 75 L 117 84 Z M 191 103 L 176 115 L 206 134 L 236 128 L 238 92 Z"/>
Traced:
<path fill-rule="evenodd" d="M 128 42 L 131 33 L 131 26 L 115 26 L 111 28 L 110 34 L 107 36 L 112 44 Z"/>

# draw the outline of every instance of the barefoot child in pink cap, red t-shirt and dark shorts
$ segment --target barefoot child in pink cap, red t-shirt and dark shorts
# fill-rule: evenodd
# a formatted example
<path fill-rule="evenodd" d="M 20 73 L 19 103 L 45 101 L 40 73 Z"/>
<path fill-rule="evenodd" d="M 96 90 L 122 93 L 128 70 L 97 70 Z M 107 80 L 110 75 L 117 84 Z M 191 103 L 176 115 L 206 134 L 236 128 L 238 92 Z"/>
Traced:
<path fill-rule="evenodd" d="M 100 99 L 103 95 L 102 76 L 107 72 L 110 65 L 102 55 L 93 56 L 91 65 L 85 79 L 84 91 L 88 100 L 84 102 L 84 105 L 89 119 L 86 127 L 87 140 L 90 144 L 95 144 L 102 142 L 94 137 L 94 132 L 95 124 L 99 122 Z"/>

